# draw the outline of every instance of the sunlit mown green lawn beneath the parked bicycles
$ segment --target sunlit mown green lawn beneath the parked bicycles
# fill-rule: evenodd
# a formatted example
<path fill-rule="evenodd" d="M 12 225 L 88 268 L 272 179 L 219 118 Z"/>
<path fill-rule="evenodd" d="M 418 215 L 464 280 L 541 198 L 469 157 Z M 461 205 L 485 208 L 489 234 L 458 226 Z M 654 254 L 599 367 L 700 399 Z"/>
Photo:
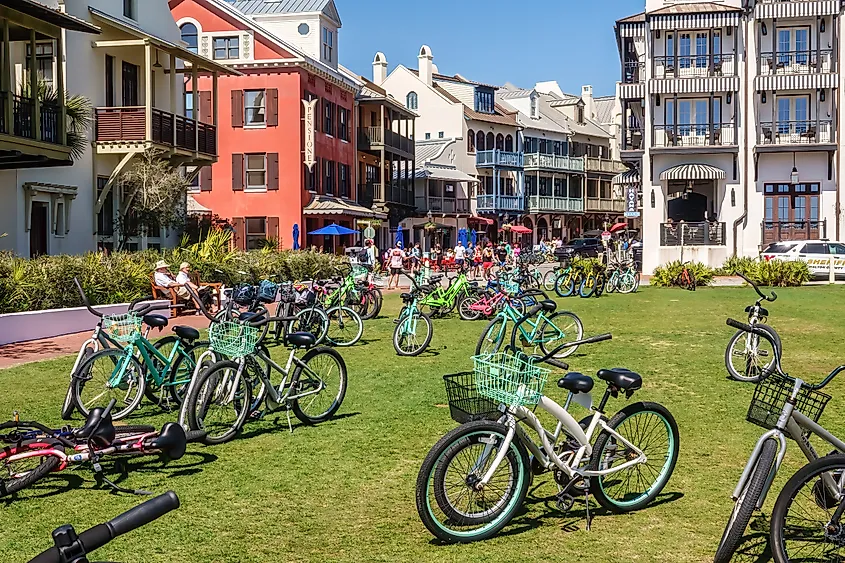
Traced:
<path fill-rule="evenodd" d="M 845 318 L 836 312 L 845 289 L 779 294 L 768 308 L 783 337 L 785 367 L 819 380 L 842 361 L 838 336 Z M 96 559 L 712 561 L 731 491 L 761 434 L 745 422 L 753 387 L 727 380 L 723 364 L 733 333 L 725 318 L 743 319 L 753 297 L 748 288 L 695 293 L 645 288 L 630 296 L 562 301 L 562 308 L 583 319 L 587 334 L 614 335 L 610 342 L 579 350 L 569 359 L 572 368 L 594 374 L 601 367 L 625 366 L 639 372 L 644 387 L 632 401 L 663 403 L 681 431 L 677 468 L 655 505 L 624 516 L 594 505 L 591 532 L 585 531 L 583 503 L 560 513 L 553 481 L 543 476 L 535 479 L 525 509 L 496 538 L 459 546 L 433 541 L 416 513 L 415 479 L 431 446 L 455 426 L 445 408 L 441 376 L 471 367 L 469 356 L 484 323 L 436 320 L 430 351 L 399 358 L 390 344 L 399 302 L 390 296 L 382 317 L 367 323 L 365 341 L 343 351 L 349 389 L 334 420 L 316 427 L 294 422 L 290 434 L 282 415 L 248 425 L 232 443 L 192 446 L 178 462 L 132 460 L 121 484 L 173 489 L 182 507 L 112 542 Z M 20 410 L 26 419 L 59 424 L 71 363 L 63 358 L 0 371 L 0 412 L 5 417 Z M 833 431 L 845 423 L 843 388 L 842 378 L 829 387 L 834 400 L 822 421 Z M 601 390 L 597 385 L 595 393 Z M 565 398 L 553 382 L 547 391 Z M 610 408 L 615 412 L 626 402 L 612 400 Z M 168 415 L 147 406 L 140 419 L 162 424 Z M 801 465 L 793 444 L 774 490 Z M 767 511 L 775 498 L 770 495 Z M 65 471 L 0 504 L 0 529 L 6 530 L 0 552 L 7 561 L 28 560 L 49 546 L 55 527 L 72 522 L 81 531 L 140 501 L 96 489 L 87 470 Z M 737 560 L 766 561 L 765 520 L 752 522 L 752 529 Z"/>

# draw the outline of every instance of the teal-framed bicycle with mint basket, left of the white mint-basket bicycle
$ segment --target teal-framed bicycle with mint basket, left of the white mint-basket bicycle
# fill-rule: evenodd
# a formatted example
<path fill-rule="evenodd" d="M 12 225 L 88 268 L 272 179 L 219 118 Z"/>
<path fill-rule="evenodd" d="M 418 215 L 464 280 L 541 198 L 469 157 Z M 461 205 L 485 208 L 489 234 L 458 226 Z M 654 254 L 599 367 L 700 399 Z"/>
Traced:
<path fill-rule="evenodd" d="M 122 408 L 112 416 L 121 420 L 138 407 L 144 394 L 162 407 L 168 406 L 170 400 L 181 404 L 184 388 L 196 367 L 194 354 L 207 346 L 206 342 L 199 341 L 199 331 L 188 326 L 174 326 L 176 336 L 162 339 L 156 346 L 140 332 L 142 313 L 169 305 L 149 305 L 122 315 L 103 315 L 91 307 L 79 281 L 74 279 L 74 283 L 88 311 L 102 319 L 101 330 L 124 346 L 100 350 L 74 372 L 72 394 L 77 410 L 88 416 L 91 408 L 115 399 Z M 167 325 L 167 319 L 148 316 L 147 323 L 163 327 Z"/>

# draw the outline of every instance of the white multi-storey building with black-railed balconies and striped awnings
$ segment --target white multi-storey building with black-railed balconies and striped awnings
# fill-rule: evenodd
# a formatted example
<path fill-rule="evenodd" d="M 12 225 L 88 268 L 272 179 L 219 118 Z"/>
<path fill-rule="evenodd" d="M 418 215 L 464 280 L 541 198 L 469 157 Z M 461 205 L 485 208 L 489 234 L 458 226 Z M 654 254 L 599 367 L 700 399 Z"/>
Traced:
<path fill-rule="evenodd" d="M 841 234 L 841 3 L 647 0 L 621 19 L 618 181 L 643 267 Z M 683 221 L 683 224 L 681 224 Z"/>

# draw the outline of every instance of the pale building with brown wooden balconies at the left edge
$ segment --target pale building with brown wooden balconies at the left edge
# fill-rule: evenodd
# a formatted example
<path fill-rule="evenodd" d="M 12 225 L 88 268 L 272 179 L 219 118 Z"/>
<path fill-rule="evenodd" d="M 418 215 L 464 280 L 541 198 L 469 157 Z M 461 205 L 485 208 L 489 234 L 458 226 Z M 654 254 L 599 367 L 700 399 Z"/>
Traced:
<path fill-rule="evenodd" d="M 9 41 L 2 78 L 0 230 L 9 236 L 0 239 L 0 248 L 36 256 L 112 248 L 119 241 L 127 249 L 175 241 L 177 233 L 155 226 L 132 229 L 119 178 L 152 148 L 174 167 L 214 162 L 216 131 L 184 117 L 180 75 L 228 71 L 180 45 L 164 0 L 144 2 L 143 10 L 138 0 L 42 4 L 16 2 L 2 12 Z M 28 94 L 39 81 L 93 106 L 93 126 L 81 133 L 90 143 L 83 143 L 81 154 L 68 146 L 63 104 Z"/>

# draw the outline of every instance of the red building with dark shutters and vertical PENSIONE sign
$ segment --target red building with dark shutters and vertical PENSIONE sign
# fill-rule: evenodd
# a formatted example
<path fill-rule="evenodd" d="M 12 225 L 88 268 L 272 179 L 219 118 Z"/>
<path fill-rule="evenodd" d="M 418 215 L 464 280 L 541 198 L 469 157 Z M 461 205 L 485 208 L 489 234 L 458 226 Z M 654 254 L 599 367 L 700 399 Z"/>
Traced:
<path fill-rule="evenodd" d="M 334 2 L 170 0 L 170 7 L 189 48 L 240 72 L 220 80 L 221 158 L 192 197 L 232 221 L 243 249 L 267 239 L 282 248 L 354 244 L 351 236 L 307 234 L 381 216 L 357 203 L 354 109 L 362 84 L 338 66 Z M 200 79 L 199 88 L 207 83 Z"/>

